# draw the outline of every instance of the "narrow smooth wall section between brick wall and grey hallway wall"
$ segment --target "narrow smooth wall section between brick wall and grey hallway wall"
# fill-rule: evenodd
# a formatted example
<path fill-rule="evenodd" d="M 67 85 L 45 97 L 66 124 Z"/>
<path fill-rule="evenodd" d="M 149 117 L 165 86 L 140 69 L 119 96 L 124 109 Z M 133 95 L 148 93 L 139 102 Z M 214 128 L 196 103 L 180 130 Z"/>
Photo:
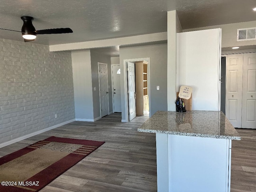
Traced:
<path fill-rule="evenodd" d="M 90 50 L 72 51 L 71 56 L 76 119 L 93 121 Z"/>

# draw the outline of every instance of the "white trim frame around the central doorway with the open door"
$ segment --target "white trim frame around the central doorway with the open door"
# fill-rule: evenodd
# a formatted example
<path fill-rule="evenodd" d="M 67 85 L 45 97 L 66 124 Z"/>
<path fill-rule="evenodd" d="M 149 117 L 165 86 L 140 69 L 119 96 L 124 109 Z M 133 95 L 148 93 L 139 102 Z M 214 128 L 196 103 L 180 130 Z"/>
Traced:
<path fill-rule="evenodd" d="M 127 80 L 127 62 L 137 62 L 137 61 L 147 61 L 148 62 L 148 106 L 149 106 L 149 116 L 151 116 L 151 90 L 150 90 L 150 58 L 135 58 L 135 59 L 124 59 L 124 112 L 125 119 L 122 122 L 129 122 L 129 109 L 128 109 L 128 80 Z M 122 85 L 121 85 L 122 86 Z"/>

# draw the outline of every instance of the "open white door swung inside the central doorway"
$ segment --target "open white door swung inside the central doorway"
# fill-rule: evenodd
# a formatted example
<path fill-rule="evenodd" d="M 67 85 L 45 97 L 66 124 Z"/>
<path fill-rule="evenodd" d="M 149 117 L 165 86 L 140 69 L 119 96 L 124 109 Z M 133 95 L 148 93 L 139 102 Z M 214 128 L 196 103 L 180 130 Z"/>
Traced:
<path fill-rule="evenodd" d="M 135 64 L 127 62 L 128 68 L 128 110 L 129 121 L 136 117 L 136 98 L 135 98 Z"/>

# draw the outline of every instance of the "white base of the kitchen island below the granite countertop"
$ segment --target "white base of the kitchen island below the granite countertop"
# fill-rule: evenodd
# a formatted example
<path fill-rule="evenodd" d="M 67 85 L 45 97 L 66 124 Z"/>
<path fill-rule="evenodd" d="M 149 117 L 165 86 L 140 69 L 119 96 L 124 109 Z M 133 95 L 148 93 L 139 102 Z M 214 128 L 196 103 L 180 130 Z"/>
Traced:
<path fill-rule="evenodd" d="M 158 192 L 230 192 L 231 140 L 156 133 Z"/>

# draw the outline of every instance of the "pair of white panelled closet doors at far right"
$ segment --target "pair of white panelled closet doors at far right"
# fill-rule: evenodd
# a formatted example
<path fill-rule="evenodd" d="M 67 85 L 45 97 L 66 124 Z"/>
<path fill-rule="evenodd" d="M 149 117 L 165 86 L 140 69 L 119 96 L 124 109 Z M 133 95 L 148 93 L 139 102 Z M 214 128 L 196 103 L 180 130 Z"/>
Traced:
<path fill-rule="evenodd" d="M 226 116 L 236 128 L 256 128 L 256 53 L 226 57 Z"/>

